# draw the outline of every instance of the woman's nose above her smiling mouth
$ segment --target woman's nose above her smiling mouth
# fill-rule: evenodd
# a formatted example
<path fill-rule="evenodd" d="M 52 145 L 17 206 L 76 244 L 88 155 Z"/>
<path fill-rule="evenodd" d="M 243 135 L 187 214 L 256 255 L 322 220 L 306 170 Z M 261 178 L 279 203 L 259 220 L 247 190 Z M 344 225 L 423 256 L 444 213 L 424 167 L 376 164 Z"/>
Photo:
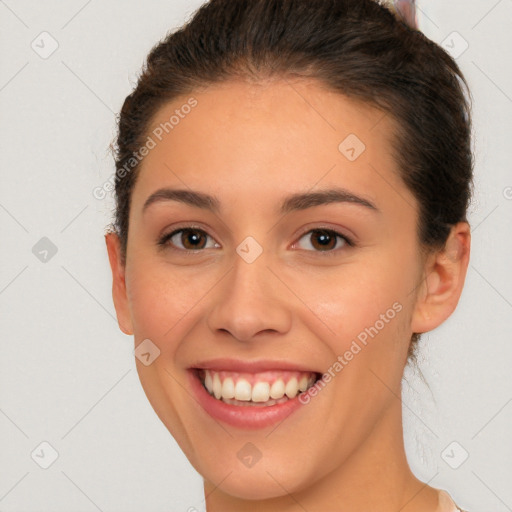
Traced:
<path fill-rule="evenodd" d="M 211 331 L 228 332 L 241 342 L 286 333 L 292 323 L 291 294 L 276 274 L 265 252 L 252 263 L 236 255 L 216 290 L 207 318 Z"/>

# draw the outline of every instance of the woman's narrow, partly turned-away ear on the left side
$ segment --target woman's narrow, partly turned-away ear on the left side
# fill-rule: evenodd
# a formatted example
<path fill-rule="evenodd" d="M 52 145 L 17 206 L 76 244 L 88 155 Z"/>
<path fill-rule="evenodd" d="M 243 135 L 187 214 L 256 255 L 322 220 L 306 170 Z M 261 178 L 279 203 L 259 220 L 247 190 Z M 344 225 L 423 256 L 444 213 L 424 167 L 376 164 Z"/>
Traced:
<path fill-rule="evenodd" d="M 112 298 L 116 308 L 117 322 L 119 328 L 125 334 L 133 334 L 130 308 L 128 307 L 128 296 L 125 283 L 125 264 L 121 258 L 121 242 L 115 233 L 105 235 L 107 244 L 108 259 L 112 269 Z"/>

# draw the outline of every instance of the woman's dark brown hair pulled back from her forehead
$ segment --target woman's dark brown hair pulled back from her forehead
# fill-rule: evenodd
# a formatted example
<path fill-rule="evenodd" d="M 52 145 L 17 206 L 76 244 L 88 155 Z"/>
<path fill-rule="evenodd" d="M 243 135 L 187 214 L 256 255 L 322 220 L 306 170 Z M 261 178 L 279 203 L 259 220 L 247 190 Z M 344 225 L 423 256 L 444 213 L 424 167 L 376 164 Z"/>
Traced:
<path fill-rule="evenodd" d="M 419 204 L 422 248 L 442 248 L 450 226 L 467 220 L 469 88 L 440 46 L 375 0 L 210 0 L 152 48 L 121 109 L 114 230 L 123 261 L 139 168 L 126 172 L 127 163 L 157 111 L 210 84 L 273 77 L 314 78 L 390 115 L 392 152 Z"/>

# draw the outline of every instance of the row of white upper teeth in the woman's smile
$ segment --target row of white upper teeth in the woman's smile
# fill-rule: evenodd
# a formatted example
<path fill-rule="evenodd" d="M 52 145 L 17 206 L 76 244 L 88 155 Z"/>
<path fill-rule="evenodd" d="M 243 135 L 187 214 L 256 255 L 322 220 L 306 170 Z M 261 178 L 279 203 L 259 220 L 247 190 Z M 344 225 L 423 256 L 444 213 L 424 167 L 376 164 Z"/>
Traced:
<path fill-rule="evenodd" d="M 240 374 L 237 372 L 204 370 L 204 385 L 217 399 L 253 402 L 278 400 L 285 395 L 293 398 L 299 391 L 306 391 L 315 383 L 313 372 L 262 372 Z"/>

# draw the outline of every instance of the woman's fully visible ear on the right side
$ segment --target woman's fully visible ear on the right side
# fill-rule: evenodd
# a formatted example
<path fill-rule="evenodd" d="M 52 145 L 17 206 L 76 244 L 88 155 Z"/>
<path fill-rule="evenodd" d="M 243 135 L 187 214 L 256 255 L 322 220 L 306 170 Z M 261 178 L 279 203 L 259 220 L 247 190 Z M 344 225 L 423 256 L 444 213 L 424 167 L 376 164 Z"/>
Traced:
<path fill-rule="evenodd" d="M 427 257 L 412 316 L 412 332 L 441 325 L 459 302 L 469 264 L 471 231 L 467 222 L 452 227 L 445 247 Z"/>

